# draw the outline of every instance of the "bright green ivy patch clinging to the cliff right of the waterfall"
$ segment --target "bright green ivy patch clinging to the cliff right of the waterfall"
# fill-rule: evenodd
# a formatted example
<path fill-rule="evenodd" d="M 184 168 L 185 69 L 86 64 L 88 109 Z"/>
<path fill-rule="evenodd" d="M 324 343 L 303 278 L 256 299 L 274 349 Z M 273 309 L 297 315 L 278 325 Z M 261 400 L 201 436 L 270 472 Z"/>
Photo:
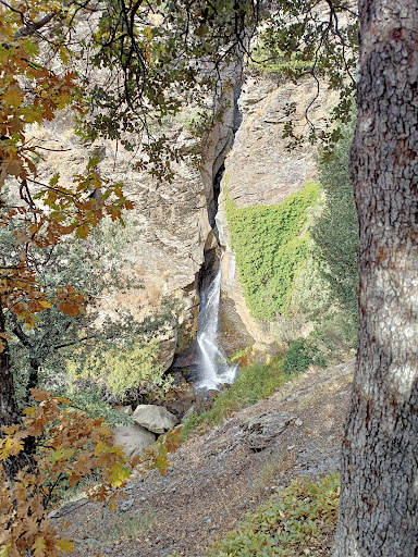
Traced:
<path fill-rule="evenodd" d="M 309 183 L 274 206 L 238 208 L 226 194 L 226 218 L 239 281 L 251 314 L 263 321 L 288 308 L 293 281 L 308 253 L 307 209 L 319 186 Z"/>

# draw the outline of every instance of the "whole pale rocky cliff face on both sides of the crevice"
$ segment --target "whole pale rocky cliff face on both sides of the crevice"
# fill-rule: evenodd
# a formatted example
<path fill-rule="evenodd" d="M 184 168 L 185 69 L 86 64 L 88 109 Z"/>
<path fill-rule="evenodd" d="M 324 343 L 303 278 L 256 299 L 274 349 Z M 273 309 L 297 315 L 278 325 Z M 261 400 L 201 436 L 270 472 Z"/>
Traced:
<path fill-rule="evenodd" d="M 135 138 L 133 152 L 111 140 L 86 147 L 77 140 L 72 120 L 65 114 L 48 127 L 32 131 L 33 138 L 44 147 L 63 149 L 51 152 L 40 163 L 40 182 L 58 171 L 62 178 L 71 180 L 83 172 L 89 157 L 99 154 L 101 174 L 124 183 L 135 201 L 135 226 L 139 234 L 124 248 L 128 260 L 124 272 L 140 278 L 144 288 L 110 300 L 107 311 L 111 311 L 112 305 L 122 304 L 144 315 L 163 296 L 180 300 L 183 310 L 177 323 L 161 337 L 160 360 L 165 369 L 171 366 L 174 352 L 182 351 L 196 336 L 199 273 L 205 255 L 218 246 L 218 233 L 224 250 L 223 290 L 235 304 L 250 335 L 258 342 L 270 341 L 266 329 L 250 318 L 241 292 L 225 218 L 225 190 L 238 207 L 248 207 L 278 203 L 300 189 L 315 175 L 314 151 L 309 144 L 288 151 L 287 139 L 282 138 L 284 125 L 293 120 L 299 129 L 308 132 L 307 107 L 309 119 L 324 124 L 333 103 L 324 89 L 315 99 L 316 83 L 311 79 L 293 85 L 283 78 L 248 77 L 241 90 L 238 71 L 232 71 L 235 88 L 229 88 L 219 100 L 225 107 L 223 122 L 206 138 L 200 165 L 190 154 L 196 144 L 184 125 L 187 110 L 163 131 L 184 153 L 181 162 L 173 163 L 171 183 L 160 183 L 148 173 L 134 170 L 143 156 Z M 213 234 L 211 225 L 218 209 L 213 182 L 217 174 L 220 180 L 224 163 Z"/>

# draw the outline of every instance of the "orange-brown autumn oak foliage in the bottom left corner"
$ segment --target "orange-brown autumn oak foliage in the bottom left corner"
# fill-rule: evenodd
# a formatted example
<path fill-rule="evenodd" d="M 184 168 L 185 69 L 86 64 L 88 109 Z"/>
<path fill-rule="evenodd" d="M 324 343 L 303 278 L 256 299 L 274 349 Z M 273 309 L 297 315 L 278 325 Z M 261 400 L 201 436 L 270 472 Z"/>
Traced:
<path fill-rule="evenodd" d="M 77 486 L 95 474 L 100 481 L 87 486 L 87 496 L 108 502 L 114 509 L 133 466 L 142 463 L 165 474 L 168 453 L 179 446 L 176 429 L 127 461 L 122 447 L 113 446 L 112 432 L 102 418 L 89 418 L 72 408 L 69 399 L 51 393 L 33 389 L 32 396 L 38 404 L 24 410 L 22 423 L 1 431 L 1 557 L 58 557 L 73 553 L 74 542 L 59 537 L 50 519 L 51 509 L 62 498 L 62 483 Z M 17 471 L 20 457 L 26 466 Z"/>

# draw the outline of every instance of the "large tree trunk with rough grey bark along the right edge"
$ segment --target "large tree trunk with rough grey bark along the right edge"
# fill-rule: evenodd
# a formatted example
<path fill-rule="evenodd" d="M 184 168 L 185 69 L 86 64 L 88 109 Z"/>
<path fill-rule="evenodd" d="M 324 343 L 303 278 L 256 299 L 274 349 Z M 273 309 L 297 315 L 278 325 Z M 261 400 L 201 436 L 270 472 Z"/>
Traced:
<path fill-rule="evenodd" d="M 360 0 L 359 346 L 334 555 L 418 555 L 418 5 Z"/>

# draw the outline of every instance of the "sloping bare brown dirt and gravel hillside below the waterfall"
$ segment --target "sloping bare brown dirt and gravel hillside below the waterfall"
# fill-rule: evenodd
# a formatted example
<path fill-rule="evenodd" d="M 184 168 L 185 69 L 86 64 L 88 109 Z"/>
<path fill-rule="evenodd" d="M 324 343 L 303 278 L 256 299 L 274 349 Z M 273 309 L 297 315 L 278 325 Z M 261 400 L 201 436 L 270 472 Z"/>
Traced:
<path fill-rule="evenodd" d="M 339 469 L 353 362 L 312 370 L 273 396 L 184 444 L 165 478 L 152 471 L 133 481 L 127 499 L 110 512 L 83 504 L 65 519 L 76 556 L 202 557 L 217 536 L 233 530 L 272 487 L 298 475 Z M 297 417 L 260 451 L 245 441 L 243 423 L 262 413 Z M 66 507 L 63 510 L 71 510 Z"/>

